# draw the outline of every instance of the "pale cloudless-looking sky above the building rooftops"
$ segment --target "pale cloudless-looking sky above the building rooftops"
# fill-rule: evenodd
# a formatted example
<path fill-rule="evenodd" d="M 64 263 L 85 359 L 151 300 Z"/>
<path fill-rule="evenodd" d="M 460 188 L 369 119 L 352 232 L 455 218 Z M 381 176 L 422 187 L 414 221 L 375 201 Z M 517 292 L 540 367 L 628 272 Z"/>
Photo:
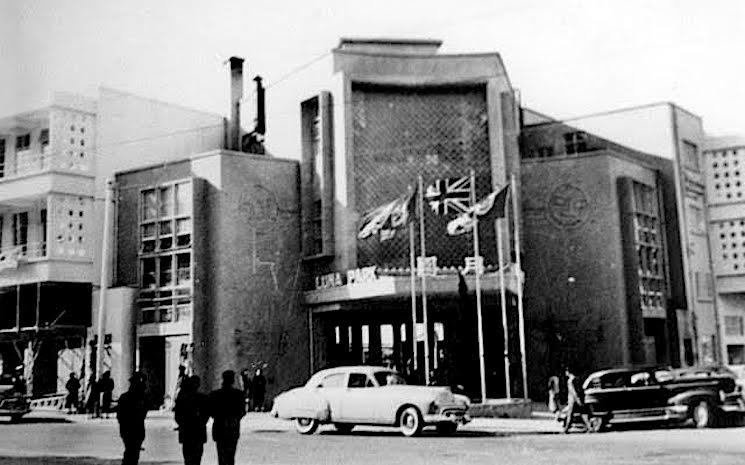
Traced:
<path fill-rule="evenodd" d="M 745 133 L 744 26 L 738 0 L 0 0 L 0 115 L 99 85 L 225 114 L 230 55 L 271 99 L 339 37 L 425 37 L 501 53 L 523 103 L 559 118 L 674 101 Z"/>

